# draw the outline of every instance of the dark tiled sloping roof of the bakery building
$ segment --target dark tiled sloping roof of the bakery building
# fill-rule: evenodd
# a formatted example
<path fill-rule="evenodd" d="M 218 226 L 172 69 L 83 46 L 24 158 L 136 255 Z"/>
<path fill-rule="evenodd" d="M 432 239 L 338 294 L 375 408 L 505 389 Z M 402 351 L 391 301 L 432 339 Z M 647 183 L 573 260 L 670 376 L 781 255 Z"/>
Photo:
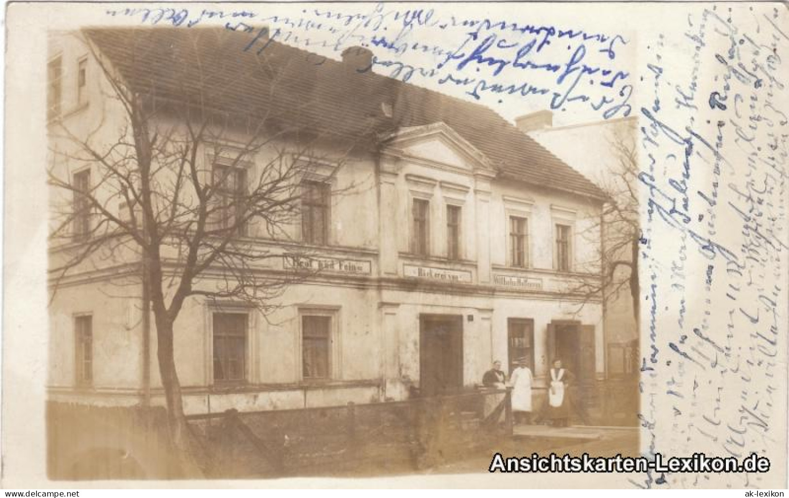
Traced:
<path fill-rule="evenodd" d="M 495 111 L 348 64 L 224 28 L 85 30 L 136 92 L 282 127 L 369 137 L 398 127 L 445 122 L 510 180 L 602 197 L 578 171 Z M 391 117 L 382 103 L 391 105 Z"/>

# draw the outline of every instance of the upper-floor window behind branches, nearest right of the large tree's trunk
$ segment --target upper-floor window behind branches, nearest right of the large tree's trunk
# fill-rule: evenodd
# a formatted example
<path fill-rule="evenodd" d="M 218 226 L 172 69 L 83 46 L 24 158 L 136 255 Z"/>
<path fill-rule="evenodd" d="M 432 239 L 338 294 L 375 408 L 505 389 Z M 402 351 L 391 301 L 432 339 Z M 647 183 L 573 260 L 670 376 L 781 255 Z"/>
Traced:
<path fill-rule="evenodd" d="M 246 169 L 222 163 L 214 164 L 216 206 L 211 212 L 218 230 L 235 228 L 237 234 L 246 234 L 246 215 L 243 206 L 246 195 Z"/>

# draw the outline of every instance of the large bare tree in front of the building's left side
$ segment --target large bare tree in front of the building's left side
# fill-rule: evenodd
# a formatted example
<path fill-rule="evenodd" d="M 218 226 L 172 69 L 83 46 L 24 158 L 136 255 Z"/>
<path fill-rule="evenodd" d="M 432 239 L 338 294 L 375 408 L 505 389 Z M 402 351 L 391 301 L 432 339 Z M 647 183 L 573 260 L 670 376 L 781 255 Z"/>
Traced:
<path fill-rule="evenodd" d="M 308 250 L 283 253 L 254 236 L 292 238 L 301 182 L 326 159 L 319 153 L 326 137 L 281 121 L 272 125 L 267 115 L 140 92 L 87 44 L 106 81 L 103 98 L 122 118 L 107 111 L 90 129 L 65 121 L 50 126 L 51 288 L 54 293 L 86 268 L 137 265 L 116 282 L 136 279 L 150 303 L 170 433 L 176 447 L 189 450 L 174 324 L 189 298 L 241 300 L 265 312 L 287 286 L 314 274 L 309 264 L 306 270 L 276 264 L 310 258 Z M 354 144 L 340 153 L 334 145 L 336 171 Z M 73 174 L 85 166 L 87 178 Z"/>

